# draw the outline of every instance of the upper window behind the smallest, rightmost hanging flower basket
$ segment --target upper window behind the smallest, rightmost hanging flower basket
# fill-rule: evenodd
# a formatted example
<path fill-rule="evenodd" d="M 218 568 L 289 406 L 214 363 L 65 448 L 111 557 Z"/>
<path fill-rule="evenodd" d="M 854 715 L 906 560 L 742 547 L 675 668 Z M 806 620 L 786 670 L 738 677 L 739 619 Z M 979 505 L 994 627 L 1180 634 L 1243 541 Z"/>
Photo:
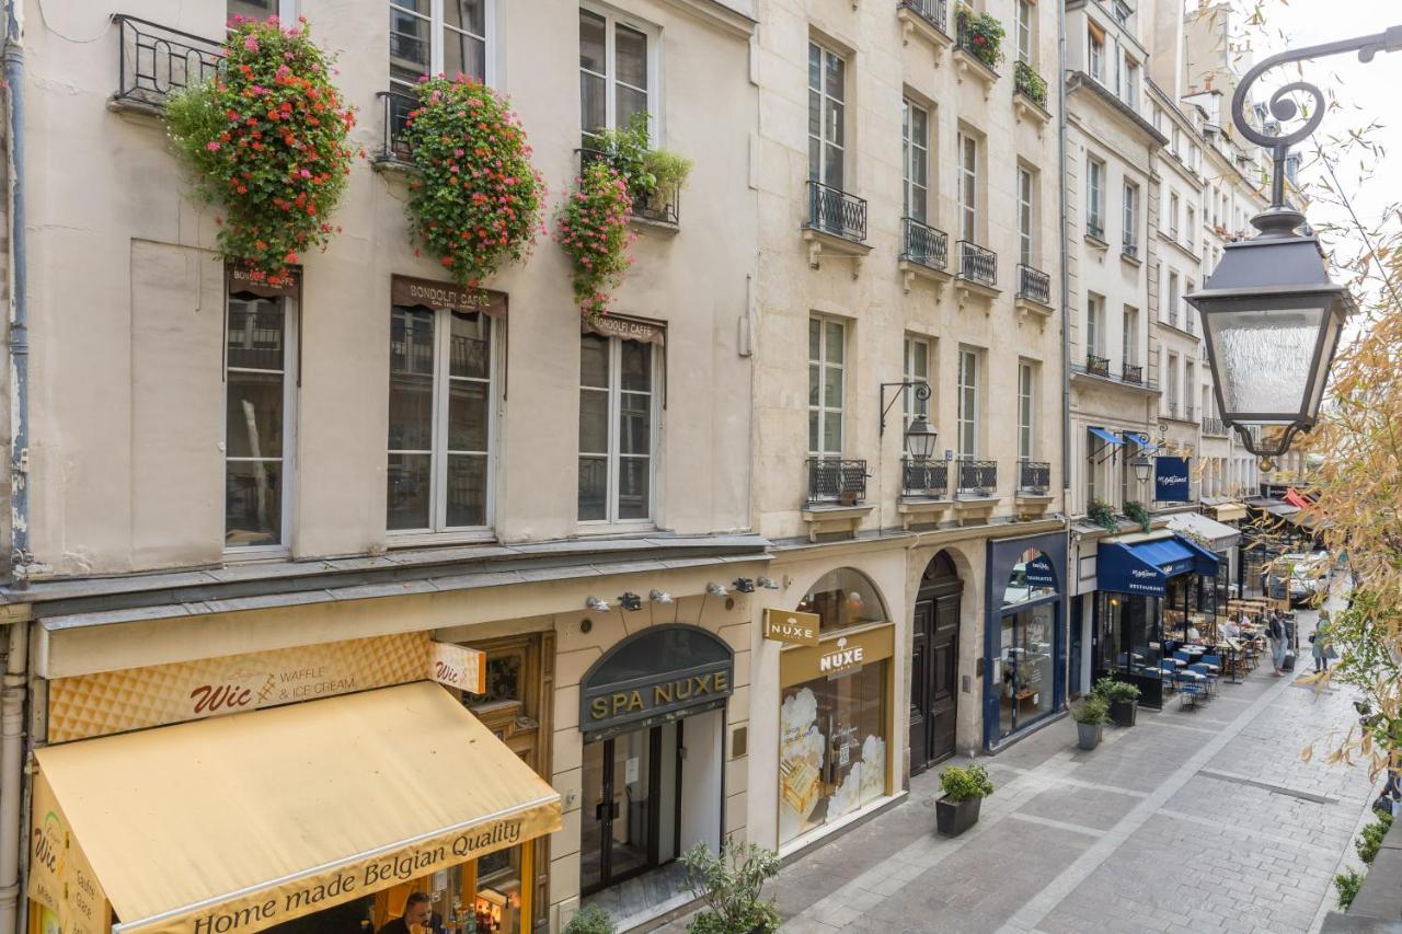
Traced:
<path fill-rule="evenodd" d="M 656 45 L 656 36 L 637 24 L 603 8 L 579 8 L 579 125 L 585 149 L 600 130 L 624 129 L 637 115 L 656 112 L 651 94 Z"/>

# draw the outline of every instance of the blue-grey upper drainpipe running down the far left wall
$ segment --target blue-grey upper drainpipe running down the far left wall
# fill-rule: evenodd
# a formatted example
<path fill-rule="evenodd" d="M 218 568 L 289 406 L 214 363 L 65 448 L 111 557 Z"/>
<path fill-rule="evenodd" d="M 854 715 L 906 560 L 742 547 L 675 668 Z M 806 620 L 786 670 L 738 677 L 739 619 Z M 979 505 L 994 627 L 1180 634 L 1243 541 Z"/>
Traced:
<path fill-rule="evenodd" d="M 4 76 L 10 101 L 10 534 L 14 586 L 29 565 L 29 306 L 24 213 L 24 24 L 20 0 L 6 0 Z M 3 884 L 3 882 L 0 882 Z M 7 934 L 0 930 L 0 934 Z"/>

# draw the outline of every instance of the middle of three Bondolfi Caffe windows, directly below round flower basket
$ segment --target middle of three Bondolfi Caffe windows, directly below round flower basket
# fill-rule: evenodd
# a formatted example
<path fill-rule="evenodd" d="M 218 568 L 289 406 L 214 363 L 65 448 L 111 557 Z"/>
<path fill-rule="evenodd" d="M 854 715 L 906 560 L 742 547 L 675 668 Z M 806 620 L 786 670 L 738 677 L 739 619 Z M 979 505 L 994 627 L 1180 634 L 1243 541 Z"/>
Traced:
<path fill-rule="evenodd" d="M 495 327 L 479 313 L 394 306 L 390 318 L 390 532 L 491 522 Z"/>

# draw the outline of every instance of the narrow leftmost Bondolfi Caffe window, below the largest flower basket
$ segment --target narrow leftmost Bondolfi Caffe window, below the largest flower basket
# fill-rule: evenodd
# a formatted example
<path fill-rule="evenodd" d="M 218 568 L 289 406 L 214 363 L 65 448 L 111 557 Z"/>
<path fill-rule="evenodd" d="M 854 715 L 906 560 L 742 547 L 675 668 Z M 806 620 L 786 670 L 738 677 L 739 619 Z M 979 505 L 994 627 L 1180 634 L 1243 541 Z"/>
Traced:
<path fill-rule="evenodd" d="M 224 547 L 286 544 L 297 391 L 292 299 L 229 299 Z"/>

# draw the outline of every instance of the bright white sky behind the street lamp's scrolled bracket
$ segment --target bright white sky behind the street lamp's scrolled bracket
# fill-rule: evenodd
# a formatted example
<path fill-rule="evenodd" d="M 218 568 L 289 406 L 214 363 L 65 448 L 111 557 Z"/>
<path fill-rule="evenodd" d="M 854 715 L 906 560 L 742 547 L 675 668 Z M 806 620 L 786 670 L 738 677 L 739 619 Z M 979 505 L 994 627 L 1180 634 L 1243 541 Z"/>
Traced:
<path fill-rule="evenodd" d="M 1286 49 L 1335 42 L 1382 32 L 1389 25 L 1402 25 L 1402 3 L 1398 0 L 1232 0 L 1232 6 L 1239 13 L 1238 21 L 1242 22 L 1258 6 L 1265 14 L 1263 27 L 1242 27 L 1251 39 L 1256 62 Z M 1242 70 L 1248 66 L 1249 63 L 1244 63 Z M 1305 62 L 1301 69 L 1286 66 L 1273 70 L 1260 79 L 1256 88 L 1260 91 L 1258 100 L 1263 101 L 1280 84 L 1304 79 L 1318 84 L 1326 94 L 1333 94 L 1338 104 L 1328 109 L 1312 144 L 1311 142 L 1300 144 L 1309 160 L 1302 168 L 1304 181 L 1309 185 L 1318 180 L 1328 180 L 1318 157 L 1311 158 L 1312 150 L 1323 144 L 1335 160 L 1339 189 L 1347 195 L 1364 229 L 1374 230 L 1385 213 L 1392 217 L 1396 229 L 1398 202 L 1402 202 L 1402 107 L 1398 105 L 1398 93 L 1402 90 L 1402 50 L 1380 52 L 1370 63 L 1359 62 L 1356 53 L 1336 55 Z M 1381 126 L 1370 130 L 1367 139 L 1380 144 L 1384 154 L 1378 158 L 1368 157 L 1371 165 L 1367 170 L 1360 168 L 1360 158 L 1364 156 L 1361 150 L 1356 149 L 1352 154 L 1340 156 L 1340 147 L 1329 144 L 1330 136 L 1346 136 L 1350 130 L 1361 130 L 1375 122 Z M 1315 196 L 1307 213 L 1314 226 L 1353 227 L 1343 205 L 1330 203 L 1338 202 L 1338 198 L 1312 185 L 1311 189 Z M 1321 236 L 1326 247 L 1338 250 L 1339 258 L 1359 255 L 1361 251 L 1361 238 L 1356 231 L 1350 230 L 1349 236 L 1343 237 L 1342 231 L 1323 230 Z M 1402 290 L 1402 283 L 1395 285 Z M 1373 280 L 1366 286 L 1366 292 L 1371 296 L 1381 287 L 1374 266 Z M 1366 296 L 1360 296 L 1360 300 L 1366 300 Z"/>

